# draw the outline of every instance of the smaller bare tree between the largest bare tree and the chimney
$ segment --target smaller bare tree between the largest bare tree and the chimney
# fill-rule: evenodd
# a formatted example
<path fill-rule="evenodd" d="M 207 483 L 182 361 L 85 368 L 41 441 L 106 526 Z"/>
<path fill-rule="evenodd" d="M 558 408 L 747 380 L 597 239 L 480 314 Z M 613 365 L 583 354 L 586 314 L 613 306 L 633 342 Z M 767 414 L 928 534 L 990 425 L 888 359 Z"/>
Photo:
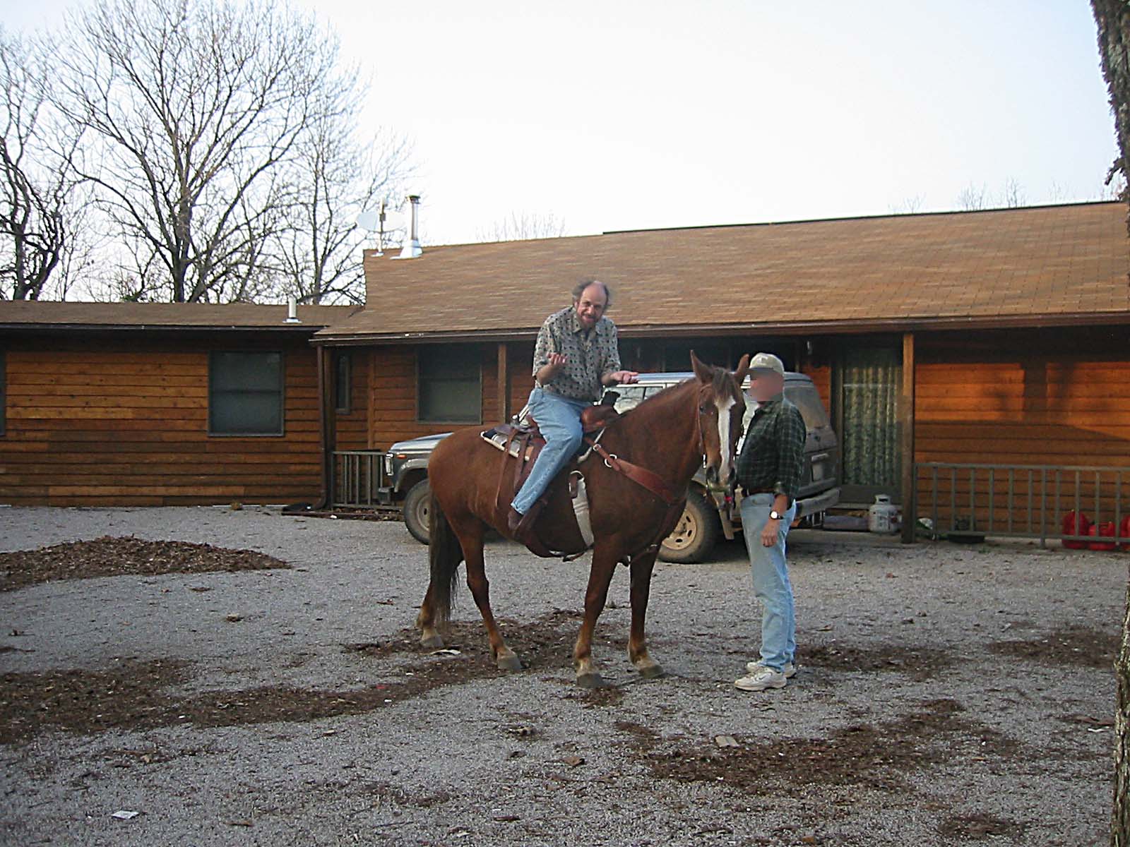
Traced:
<path fill-rule="evenodd" d="M 296 157 L 286 226 L 271 238 L 270 261 L 285 292 L 302 303 L 364 302 L 357 215 L 400 193 L 411 173 L 405 139 L 382 133 L 363 146 L 355 136 L 355 107 L 344 104 L 311 128 Z"/>

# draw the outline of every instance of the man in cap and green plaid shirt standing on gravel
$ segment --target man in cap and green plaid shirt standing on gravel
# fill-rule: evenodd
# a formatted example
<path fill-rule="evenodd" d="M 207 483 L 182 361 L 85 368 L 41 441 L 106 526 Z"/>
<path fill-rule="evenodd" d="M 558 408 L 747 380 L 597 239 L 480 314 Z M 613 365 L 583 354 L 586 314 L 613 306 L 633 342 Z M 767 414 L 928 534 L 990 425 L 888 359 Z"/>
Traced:
<path fill-rule="evenodd" d="M 784 688 L 797 673 L 797 620 L 785 561 L 785 536 L 797 514 L 805 461 L 805 419 L 784 398 L 784 365 L 772 353 L 749 363 L 749 396 L 757 410 L 738 456 L 741 531 L 754 594 L 762 603 L 762 656 L 733 684 L 742 691 Z"/>

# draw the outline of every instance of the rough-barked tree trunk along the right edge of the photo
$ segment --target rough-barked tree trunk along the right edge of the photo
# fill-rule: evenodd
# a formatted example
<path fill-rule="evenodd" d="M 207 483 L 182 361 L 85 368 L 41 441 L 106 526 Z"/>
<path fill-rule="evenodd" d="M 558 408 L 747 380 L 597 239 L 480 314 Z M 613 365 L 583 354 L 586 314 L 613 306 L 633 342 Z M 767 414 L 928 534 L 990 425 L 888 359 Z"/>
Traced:
<path fill-rule="evenodd" d="M 1098 55 L 1114 113 L 1119 158 L 1106 184 L 1116 175 L 1130 177 L 1130 5 L 1125 0 L 1092 0 L 1098 28 Z M 1130 200 L 1123 187 L 1122 199 Z M 1127 217 L 1130 232 L 1130 216 Z M 1122 641 L 1114 663 L 1118 700 L 1114 707 L 1114 803 L 1111 810 L 1111 847 L 1130 847 L 1130 580 L 1122 617 Z"/>

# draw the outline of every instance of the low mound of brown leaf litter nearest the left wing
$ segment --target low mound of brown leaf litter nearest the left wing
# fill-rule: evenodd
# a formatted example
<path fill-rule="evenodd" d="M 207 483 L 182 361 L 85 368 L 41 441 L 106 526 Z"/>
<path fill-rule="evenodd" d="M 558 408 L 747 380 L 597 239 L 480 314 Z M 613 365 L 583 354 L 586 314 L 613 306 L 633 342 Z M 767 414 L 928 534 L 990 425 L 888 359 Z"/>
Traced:
<path fill-rule="evenodd" d="M 228 550 L 188 541 L 145 541 L 132 535 L 103 535 L 93 541 L 69 541 L 38 550 L 0 553 L 0 591 L 15 591 L 58 579 L 289 567 L 281 559 L 254 550 Z"/>

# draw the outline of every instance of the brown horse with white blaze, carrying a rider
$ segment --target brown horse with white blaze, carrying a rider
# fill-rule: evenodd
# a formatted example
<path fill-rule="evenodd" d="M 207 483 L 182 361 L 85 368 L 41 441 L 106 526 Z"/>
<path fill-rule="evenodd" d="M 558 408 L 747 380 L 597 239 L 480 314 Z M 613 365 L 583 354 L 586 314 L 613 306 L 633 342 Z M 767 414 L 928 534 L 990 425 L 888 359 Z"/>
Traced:
<path fill-rule="evenodd" d="M 662 674 L 662 667 L 647 654 L 644 638 L 647 593 L 659 542 L 675 529 L 683 514 L 687 487 L 699 466 L 705 464 L 711 481 L 729 483 L 733 478 L 733 453 L 746 407 L 740 386 L 749 357 L 744 356 L 733 373 L 704 365 L 694 352 L 690 363 L 695 378 L 649 398 L 609 425 L 601 439 L 608 453 L 652 471 L 679 492 L 681 499 L 677 497 L 670 505 L 664 503 L 612 470 L 600 456 L 590 455 L 580 465 L 589 494 L 593 550 L 584 596 L 584 623 L 573 649 L 573 662 L 577 683 L 586 688 L 602 684 L 592 660 L 592 634 L 605 609 L 617 562 L 629 565 L 632 574 L 628 658 L 643 676 Z M 447 622 L 459 564 L 466 559 L 467 584 L 483 613 L 490 652 L 499 667 L 520 670 L 522 664 L 503 640 L 490 611 L 489 584 L 483 566 L 486 532 L 493 527 L 507 535 L 510 503 L 498 497 L 502 461 L 514 460 L 484 442 L 477 429 L 454 433 L 433 452 L 428 461 L 432 579 L 416 622 L 424 645 L 443 645 L 437 628 Z M 559 474 L 550 486 L 548 504 L 536 529 L 551 550 L 582 552 L 585 545 L 565 477 Z"/>

